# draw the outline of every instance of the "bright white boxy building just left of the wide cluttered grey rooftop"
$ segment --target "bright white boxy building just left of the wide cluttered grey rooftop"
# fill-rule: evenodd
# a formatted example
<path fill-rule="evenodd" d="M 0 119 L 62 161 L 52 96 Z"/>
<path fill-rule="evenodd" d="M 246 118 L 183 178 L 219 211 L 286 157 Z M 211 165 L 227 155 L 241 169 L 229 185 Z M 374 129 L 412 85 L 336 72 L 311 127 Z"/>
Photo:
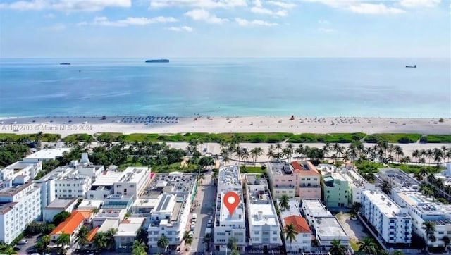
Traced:
<path fill-rule="evenodd" d="M 150 168 L 128 167 L 123 175 L 113 184 L 114 194 L 134 195 L 135 198 L 144 192 L 144 188 L 150 182 Z"/>

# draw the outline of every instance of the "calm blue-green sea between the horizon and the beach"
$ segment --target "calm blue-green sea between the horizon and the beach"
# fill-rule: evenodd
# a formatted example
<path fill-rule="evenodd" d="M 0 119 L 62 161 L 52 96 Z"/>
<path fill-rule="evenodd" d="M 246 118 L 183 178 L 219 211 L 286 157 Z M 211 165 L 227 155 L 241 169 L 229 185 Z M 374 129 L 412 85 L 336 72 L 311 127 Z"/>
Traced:
<path fill-rule="evenodd" d="M 144 60 L 0 59 L 0 116 L 451 117 L 450 58 Z"/>

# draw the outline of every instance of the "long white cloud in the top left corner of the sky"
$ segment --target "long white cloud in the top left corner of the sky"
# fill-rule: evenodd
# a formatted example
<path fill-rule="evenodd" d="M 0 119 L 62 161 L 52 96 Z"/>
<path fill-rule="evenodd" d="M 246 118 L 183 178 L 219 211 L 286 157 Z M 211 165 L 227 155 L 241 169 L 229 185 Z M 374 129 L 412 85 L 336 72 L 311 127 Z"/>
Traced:
<path fill-rule="evenodd" d="M 0 4 L 0 8 L 20 11 L 40 11 L 45 9 L 57 11 L 101 11 L 108 7 L 127 8 L 130 6 L 132 6 L 131 0 L 31 0 Z"/>

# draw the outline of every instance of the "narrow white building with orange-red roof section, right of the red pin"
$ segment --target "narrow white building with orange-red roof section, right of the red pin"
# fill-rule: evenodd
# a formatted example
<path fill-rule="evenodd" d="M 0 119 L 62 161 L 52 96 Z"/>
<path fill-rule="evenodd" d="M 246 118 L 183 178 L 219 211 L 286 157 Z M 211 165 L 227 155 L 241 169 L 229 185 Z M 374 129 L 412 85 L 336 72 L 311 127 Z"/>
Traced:
<path fill-rule="evenodd" d="M 278 201 L 278 203 L 280 200 Z M 299 203 L 297 199 L 290 199 L 289 201 L 290 209 L 280 211 L 280 220 L 282 220 L 283 228 L 285 230 L 287 225 L 292 224 L 297 232 L 296 240 L 290 243 L 287 239 L 285 233 L 285 250 L 292 254 L 302 254 L 302 252 L 311 250 L 311 230 L 307 220 L 302 217 L 299 211 Z"/>

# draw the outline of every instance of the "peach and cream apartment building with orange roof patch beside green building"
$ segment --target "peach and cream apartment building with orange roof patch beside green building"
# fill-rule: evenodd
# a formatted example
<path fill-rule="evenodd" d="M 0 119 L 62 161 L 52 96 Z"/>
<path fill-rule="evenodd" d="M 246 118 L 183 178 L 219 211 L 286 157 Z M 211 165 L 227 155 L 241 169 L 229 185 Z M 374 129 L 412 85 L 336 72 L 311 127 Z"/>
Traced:
<path fill-rule="evenodd" d="M 267 173 L 274 199 L 321 199 L 321 175 L 309 161 L 269 162 Z"/>

